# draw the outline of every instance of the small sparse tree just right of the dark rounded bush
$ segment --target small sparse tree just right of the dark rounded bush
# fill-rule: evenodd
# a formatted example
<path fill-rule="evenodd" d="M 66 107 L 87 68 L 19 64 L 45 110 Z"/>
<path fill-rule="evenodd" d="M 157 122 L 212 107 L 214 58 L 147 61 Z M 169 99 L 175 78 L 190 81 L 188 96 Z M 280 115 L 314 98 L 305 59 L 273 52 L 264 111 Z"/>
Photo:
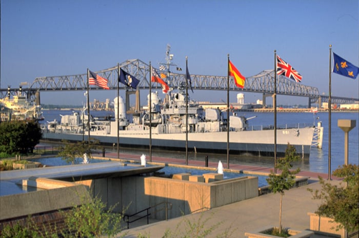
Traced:
<path fill-rule="evenodd" d="M 65 146 L 62 146 L 60 152 L 57 154 L 58 157 L 62 157 L 67 163 L 76 164 L 76 158 L 82 158 L 84 153 L 91 158 L 91 154 L 97 148 L 99 144 L 98 140 L 91 140 L 90 143 L 87 141 L 81 141 L 76 143 L 68 143 L 62 141 Z"/>

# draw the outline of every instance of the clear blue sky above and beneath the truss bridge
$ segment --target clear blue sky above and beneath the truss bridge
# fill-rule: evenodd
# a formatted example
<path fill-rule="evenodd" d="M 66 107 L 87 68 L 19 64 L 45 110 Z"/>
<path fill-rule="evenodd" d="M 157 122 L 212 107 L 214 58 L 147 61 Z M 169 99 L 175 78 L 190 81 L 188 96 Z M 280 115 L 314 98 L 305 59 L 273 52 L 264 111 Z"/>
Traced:
<path fill-rule="evenodd" d="M 158 67 L 170 44 L 173 63 L 179 67 L 185 68 L 188 56 L 191 74 L 223 76 L 228 53 L 244 76 L 252 76 L 273 69 L 276 49 L 302 74 L 302 84 L 328 94 L 330 44 L 333 52 L 359 65 L 358 4 L 358 0 L 1 0 L 1 88 L 39 76 L 98 71 L 133 58 Z M 332 74 L 332 95 L 358 98 L 358 82 Z M 231 93 L 231 102 L 235 95 Z M 91 101 L 112 100 L 116 92 L 90 96 Z M 190 96 L 197 101 L 226 100 L 225 91 L 194 91 Z M 245 93 L 246 102 L 257 99 L 262 95 Z M 83 101 L 83 92 L 42 93 L 42 104 Z M 277 103 L 306 104 L 307 98 L 279 96 Z"/>

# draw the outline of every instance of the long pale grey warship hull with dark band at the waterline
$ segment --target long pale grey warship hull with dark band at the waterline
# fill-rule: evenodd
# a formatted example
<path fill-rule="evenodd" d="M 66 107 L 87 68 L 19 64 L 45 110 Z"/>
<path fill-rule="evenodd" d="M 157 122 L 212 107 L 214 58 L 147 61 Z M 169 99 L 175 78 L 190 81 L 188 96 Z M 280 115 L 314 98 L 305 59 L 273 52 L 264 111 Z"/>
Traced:
<path fill-rule="evenodd" d="M 288 143 L 293 145 L 303 158 L 309 158 L 314 128 L 277 129 L 277 155 L 284 155 Z M 117 144 L 117 135 L 90 134 L 103 145 Z M 119 145 L 121 147 L 147 147 L 150 144 L 149 130 L 120 131 Z M 66 134 L 43 132 L 44 140 L 52 141 L 82 141 L 88 140 L 88 134 Z M 152 148 L 166 150 L 186 150 L 186 133 L 153 133 L 151 134 Z M 188 149 L 196 152 L 223 153 L 227 151 L 227 132 L 188 133 Z M 230 154 L 252 154 L 260 156 L 274 155 L 274 130 L 260 131 L 231 131 L 229 135 Z"/>

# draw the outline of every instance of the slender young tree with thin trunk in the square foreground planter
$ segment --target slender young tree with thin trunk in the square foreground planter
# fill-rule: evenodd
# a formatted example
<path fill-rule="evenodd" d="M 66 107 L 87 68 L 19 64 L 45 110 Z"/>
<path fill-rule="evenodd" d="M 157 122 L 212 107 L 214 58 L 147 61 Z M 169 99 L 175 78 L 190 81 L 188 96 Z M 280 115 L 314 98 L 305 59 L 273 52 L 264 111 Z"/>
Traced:
<path fill-rule="evenodd" d="M 276 163 L 276 168 L 281 170 L 280 174 L 275 174 L 273 171 L 269 174 L 267 182 L 269 189 L 273 193 L 280 193 L 280 207 L 279 207 L 279 234 L 282 234 L 282 201 L 285 190 L 289 190 L 295 184 L 295 174 L 300 171 L 300 168 L 297 168 L 294 171 L 290 169 L 293 167 L 292 162 L 300 159 L 300 156 L 296 153 L 295 147 L 288 143 L 285 156 L 279 158 Z"/>

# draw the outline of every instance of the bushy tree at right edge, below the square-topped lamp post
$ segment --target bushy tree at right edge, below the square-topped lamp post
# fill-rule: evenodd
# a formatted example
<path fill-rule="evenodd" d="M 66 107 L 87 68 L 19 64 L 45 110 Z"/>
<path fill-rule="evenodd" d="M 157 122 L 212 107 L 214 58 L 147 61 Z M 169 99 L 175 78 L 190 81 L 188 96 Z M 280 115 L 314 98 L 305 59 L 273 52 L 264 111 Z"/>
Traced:
<path fill-rule="evenodd" d="M 346 184 L 332 185 L 320 177 L 322 190 L 309 189 L 313 193 L 313 199 L 323 201 L 315 213 L 332 218 L 339 224 L 336 229 L 357 231 L 359 229 L 359 167 L 352 164 L 339 166 L 333 175 L 343 177 Z"/>

